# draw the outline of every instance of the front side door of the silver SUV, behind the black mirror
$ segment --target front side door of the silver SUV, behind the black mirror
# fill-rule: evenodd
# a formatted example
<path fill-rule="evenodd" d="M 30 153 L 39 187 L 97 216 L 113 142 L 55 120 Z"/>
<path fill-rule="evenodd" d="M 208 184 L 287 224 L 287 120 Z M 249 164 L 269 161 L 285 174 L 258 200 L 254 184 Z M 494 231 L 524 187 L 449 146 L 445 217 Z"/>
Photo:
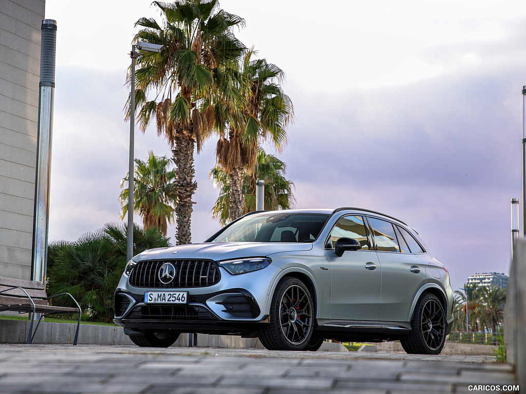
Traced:
<path fill-rule="evenodd" d="M 341 237 L 360 242 L 361 249 L 338 257 L 336 241 Z M 326 242 L 330 264 L 330 312 L 335 320 L 377 320 L 380 308 L 381 269 L 371 247 L 363 216 L 341 217 Z"/>

